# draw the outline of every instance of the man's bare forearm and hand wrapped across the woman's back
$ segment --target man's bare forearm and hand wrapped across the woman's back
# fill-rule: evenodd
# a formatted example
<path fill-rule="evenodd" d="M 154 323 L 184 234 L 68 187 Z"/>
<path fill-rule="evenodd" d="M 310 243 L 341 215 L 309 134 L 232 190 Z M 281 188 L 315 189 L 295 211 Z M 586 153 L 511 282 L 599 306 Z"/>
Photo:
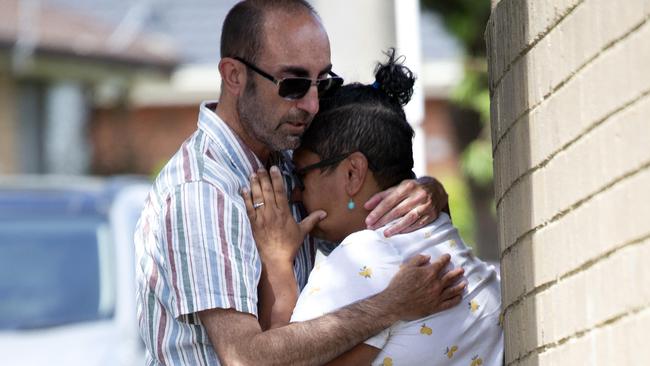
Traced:
<path fill-rule="evenodd" d="M 440 271 L 449 256 L 429 264 L 417 256 L 388 287 L 366 300 L 306 322 L 263 332 L 250 314 L 215 309 L 199 313 L 224 365 L 320 365 L 389 327 L 397 320 L 418 319 L 455 306 L 464 286 Z M 447 300 L 442 300 L 447 299 Z"/>

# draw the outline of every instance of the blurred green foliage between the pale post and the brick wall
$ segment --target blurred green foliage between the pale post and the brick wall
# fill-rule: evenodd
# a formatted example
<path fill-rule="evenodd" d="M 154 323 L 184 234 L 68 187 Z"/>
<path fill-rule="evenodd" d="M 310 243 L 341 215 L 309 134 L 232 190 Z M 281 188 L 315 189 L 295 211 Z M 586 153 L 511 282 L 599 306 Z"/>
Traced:
<path fill-rule="evenodd" d="M 464 76 L 452 91 L 451 100 L 461 109 L 475 111 L 474 123 L 481 131 L 475 139 L 464 144 L 461 152 L 461 170 L 465 177 L 441 179 L 449 193 L 449 207 L 454 225 L 463 239 L 476 243 L 477 223 L 473 199 L 481 200 L 490 192 L 493 183 L 492 143 L 490 141 L 490 93 L 486 60 L 485 28 L 490 16 L 490 0 L 420 0 L 423 8 L 438 13 L 447 31 L 454 36 L 464 51 Z M 467 115 L 467 114 L 466 114 Z M 480 119 L 480 121 L 476 121 Z M 455 121 L 459 123 L 459 121 Z M 464 123 L 468 123 L 467 120 Z M 457 126 L 464 130 L 473 128 Z M 491 212 L 495 213 L 493 198 Z"/>

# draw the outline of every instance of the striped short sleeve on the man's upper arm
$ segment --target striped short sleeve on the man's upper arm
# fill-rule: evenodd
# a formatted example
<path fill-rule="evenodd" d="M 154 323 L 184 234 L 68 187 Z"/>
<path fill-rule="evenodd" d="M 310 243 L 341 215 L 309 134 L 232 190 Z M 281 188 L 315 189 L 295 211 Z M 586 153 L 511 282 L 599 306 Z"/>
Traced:
<path fill-rule="evenodd" d="M 179 185 L 161 215 L 161 272 L 179 318 L 224 308 L 257 316 L 261 272 L 243 201 L 205 182 Z"/>

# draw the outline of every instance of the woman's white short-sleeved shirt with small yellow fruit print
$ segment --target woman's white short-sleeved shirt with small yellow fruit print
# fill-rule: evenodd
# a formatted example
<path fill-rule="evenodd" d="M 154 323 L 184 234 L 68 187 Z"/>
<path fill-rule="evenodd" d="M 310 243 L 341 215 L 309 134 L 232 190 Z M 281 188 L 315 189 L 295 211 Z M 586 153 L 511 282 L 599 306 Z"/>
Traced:
<path fill-rule="evenodd" d="M 398 322 L 366 341 L 381 349 L 373 365 L 501 365 L 503 330 L 499 277 L 465 246 L 449 216 L 412 233 L 383 236 L 364 230 L 348 236 L 313 269 L 291 321 L 305 321 L 385 289 L 416 254 L 451 255 L 447 270 L 463 267 L 468 287 L 460 305 L 412 322 Z"/>

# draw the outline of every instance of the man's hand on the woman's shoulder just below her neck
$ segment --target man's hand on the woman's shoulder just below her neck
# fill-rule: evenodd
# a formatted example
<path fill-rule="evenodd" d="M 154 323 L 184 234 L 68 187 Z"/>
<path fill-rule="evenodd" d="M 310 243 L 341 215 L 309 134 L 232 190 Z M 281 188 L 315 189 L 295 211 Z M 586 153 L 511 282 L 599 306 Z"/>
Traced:
<path fill-rule="evenodd" d="M 441 211 L 449 213 L 447 192 L 432 177 L 405 180 L 370 197 L 364 207 L 372 210 L 366 218 L 369 229 L 377 229 L 401 217 L 386 229 L 386 237 L 417 230 L 437 219 Z"/>

